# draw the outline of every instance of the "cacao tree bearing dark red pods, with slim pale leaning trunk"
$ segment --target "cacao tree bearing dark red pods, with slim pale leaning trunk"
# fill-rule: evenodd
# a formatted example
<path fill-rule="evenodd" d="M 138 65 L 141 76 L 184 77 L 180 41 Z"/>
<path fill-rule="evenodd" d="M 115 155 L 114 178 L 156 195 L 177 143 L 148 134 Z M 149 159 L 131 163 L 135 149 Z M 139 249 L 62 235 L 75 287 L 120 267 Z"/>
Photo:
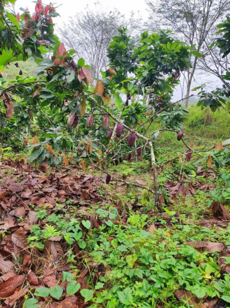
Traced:
<path fill-rule="evenodd" d="M 47 29 L 52 23 L 46 11 L 55 13 L 51 5 L 43 6 L 37 0 L 34 15 L 30 17 L 27 12 L 18 16 L 19 29 L 18 25 L 9 24 L 12 29 L 16 27 L 17 35 L 22 38 L 20 54 L 12 49 L 10 61 L 18 57 L 26 60 L 32 55 L 40 71 L 33 77 L 20 73 L 10 82 L 2 76 L 0 104 L 5 123 L 2 131 L 14 121 L 16 129 L 22 129 L 22 134 L 26 132 L 29 162 L 66 166 L 68 153 L 72 153 L 85 170 L 87 164 L 104 169 L 109 163 L 117 165 L 123 159 L 131 161 L 144 156 L 153 174 L 154 187 L 150 190 L 155 191 L 155 203 L 161 209 L 155 155 L 157 136 L 163 130 L 171 130 L 183 141 L 180 130 L 186 111 L 179 102 L 171 102 L 171 95 L 181 71 L 190 66 L 191 47 L 172 38 L 169 32 L 144 32 L 139 40 L 133 40 L 126 29 L 120 29 L 108 47 L 110 68 L 102 72 L 102 79 L 95 79 L 93 86 L 85 60 L 80 57 L 75 62 L 75 51 L 66 50 Z M 9 22 L 7 17 L 6 22 Z M 30 25 L 28 37 L 23 37 Z M 31 54 L 26 47 L 31 44 L 27 39 L 34 43 Z M 44 45 L 38 43 L 37 47 L 38 41 Z M 6 52 L 6 44 L 0 50 Z M 45 55 L 47 52 L 49 57 Z M 21 58 L 22 53 L 25 58 Z M 26 114 L 26 122 L 14 119 L 16 99 L 17 112 Z M 154 121 L 161 123 L 162 128 L 150 133 L 148 127 Z M 3 146 L 8 142 L 6 136 Z M 190 156 L 189 149 L 187 160 Z M 110 180 L 107 174 L 106 182 Z"/>

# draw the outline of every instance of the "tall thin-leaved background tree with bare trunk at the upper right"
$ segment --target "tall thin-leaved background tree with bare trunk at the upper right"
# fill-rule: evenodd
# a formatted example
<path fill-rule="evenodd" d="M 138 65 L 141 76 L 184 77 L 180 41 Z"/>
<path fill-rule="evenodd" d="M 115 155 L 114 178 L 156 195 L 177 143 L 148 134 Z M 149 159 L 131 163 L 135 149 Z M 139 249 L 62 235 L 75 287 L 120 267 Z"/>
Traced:
<path fill-rule="evenodd" d="M 150 20 L 152 18 L 156 24 L 156 18 L 152 16 L 157 14 L 164 28 L 171 29 L 190 46 L 195 45 L 193 54 L 190 55 L 192 66 L 185 74 L 187 98 L 198 62 L 202 61 L 200 56 L 209 49 L 207 46 L 211 43 L 210 34 L 216 32 L 216 25 L 230 9 L 230 0 L 160 0 L 158 3 L 146 0 L 146 2 L 151 10 Z M 210 56 L 209 51 L 208 55 Z M 188 99 L 185 100 L 185 106 L 188 106 Z"/>

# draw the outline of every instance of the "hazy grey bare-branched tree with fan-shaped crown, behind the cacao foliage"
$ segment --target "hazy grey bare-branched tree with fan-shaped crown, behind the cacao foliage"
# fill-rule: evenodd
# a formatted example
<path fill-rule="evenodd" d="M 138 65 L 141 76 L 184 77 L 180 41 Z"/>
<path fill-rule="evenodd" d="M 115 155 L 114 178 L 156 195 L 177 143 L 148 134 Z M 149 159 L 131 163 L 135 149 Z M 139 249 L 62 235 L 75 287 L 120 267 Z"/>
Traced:
<path fill-rule="evenodd" d="M 104 70 L 108 63 L 107 47 L 118 29 L 124 26 L 133 34 L 140 28 L 140 19 L 135 20 L 130 13 L 126 20 L 117 9 L 106 12 L 97 2 L 95 9 L 87 6 L 84 12 L 70 17 L 69 23 L 59 30 L 65 45 L 74 49 L 79 57 L 84 57 L 91 66 L 92 75 L 98 78 L 100 70 Z"/>

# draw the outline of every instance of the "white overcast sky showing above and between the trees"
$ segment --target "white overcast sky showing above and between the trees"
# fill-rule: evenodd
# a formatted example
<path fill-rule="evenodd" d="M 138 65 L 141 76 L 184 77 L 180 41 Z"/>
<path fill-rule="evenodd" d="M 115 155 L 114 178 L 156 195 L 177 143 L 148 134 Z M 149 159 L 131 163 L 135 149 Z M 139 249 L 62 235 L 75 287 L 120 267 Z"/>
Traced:
<path fill-rule="evenodd" d="M 156 0 L 157 1 L 157 0 Z M 53 18 L 53 22 L 56 24 L 56 29 L 63 26 L 63 23 L 68 23 L 68 17 L 74 16 L 78 12 L 84 11 L 87 4 L 89 8 L 94 8 L 95 0 L 87 0 L 87 1 L 79 1 L 79 0 L 53 0 L 54 6 L 59 6 L 56 10 L 60 14 L 60 17 Z M 122 14 L 127 17 L 130 16 L 131 11 L 136 13 L 136 16 L 140 16 L 142 20 L 145 22 L 148 19 L 148 6 L 146 5 L 145 0 L 99 0 L 101 3 L 103 11 L 107 14 L 113 8 L 118 9 Z M 49 4 L 48 2 L 43 1 L 43 4 Z M 20 11 L 20 8 L 29 9 L 30 13 L 34 12 L 35 3 L 31 0 L 17 0 L 15 3 L 15 11 L 16 13 Z M 21 12 L 22 13 L 22 12 Z M 221 86 L 221 82 L 214 78 L 213 75 L 209 76 L 196 76 L 196 81 L 193 82 L 192 87 L 197 87 L 201 84 L 208 84 L 208 89 L 212 90 L 217 86 Z M 181 88 L 177 87 L 174 94 L 174 100 L 181 99 Z"/>

